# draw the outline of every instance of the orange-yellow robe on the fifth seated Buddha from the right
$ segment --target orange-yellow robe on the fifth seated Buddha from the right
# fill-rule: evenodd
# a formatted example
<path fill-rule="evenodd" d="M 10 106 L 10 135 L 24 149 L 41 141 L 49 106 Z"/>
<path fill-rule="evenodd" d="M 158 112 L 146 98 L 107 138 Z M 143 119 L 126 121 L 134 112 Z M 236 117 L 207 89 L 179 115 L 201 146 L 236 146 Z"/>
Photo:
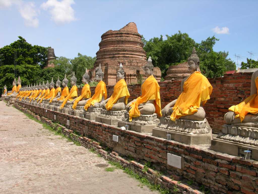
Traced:
<path fill-rule="evenodd" d="M 88 110 L 88 108 L 91 105 L 94 106 L 96 102 L 100 102 L 102 99 L 102 96 L 104 96 L 105 100 L 107 99 L 107 88 L 104 81 L 100 81 L 98 85 L 95 87 L 95 93 L 90 99 L 88 99 L 87 103 L 84 106 L 84 109 Z"/>

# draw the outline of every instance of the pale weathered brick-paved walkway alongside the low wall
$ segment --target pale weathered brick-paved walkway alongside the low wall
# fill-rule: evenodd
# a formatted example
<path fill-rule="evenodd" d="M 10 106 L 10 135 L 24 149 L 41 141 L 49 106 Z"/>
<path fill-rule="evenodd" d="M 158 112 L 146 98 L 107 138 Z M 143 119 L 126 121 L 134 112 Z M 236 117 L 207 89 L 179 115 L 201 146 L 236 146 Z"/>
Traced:
<path fill-rule="evenodd" d="M 106 160 L 0 101 L 0 193 L 154 194 Z"/>

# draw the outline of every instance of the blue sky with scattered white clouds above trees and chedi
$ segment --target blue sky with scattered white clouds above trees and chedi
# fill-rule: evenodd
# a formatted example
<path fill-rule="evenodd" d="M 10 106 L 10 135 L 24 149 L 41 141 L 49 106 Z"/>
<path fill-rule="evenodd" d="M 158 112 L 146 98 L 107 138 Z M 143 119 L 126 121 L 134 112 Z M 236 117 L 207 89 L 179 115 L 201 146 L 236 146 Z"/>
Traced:
<path fill-rule="evenodd" d="M 101 35 L 135 22 L 149 40 L 180 30 L 196 42 L 215 35 L 215 51 L 246 62 L 258 58 L 258 1 L 83 1 L 0 0 L 0 47 L 22 36 L 51 46 L 56 56 L 96 56 Z"/>

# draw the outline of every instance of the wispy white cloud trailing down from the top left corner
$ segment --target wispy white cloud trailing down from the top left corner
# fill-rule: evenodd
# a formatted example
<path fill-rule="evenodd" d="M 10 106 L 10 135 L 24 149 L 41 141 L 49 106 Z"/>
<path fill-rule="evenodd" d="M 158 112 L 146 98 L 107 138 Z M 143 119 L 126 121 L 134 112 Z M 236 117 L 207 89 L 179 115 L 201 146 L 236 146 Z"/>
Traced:
<path fill-rule="evenodd" d="M 0 0 L 0 8 L 9 8 L 15 5 L 24 19 L 25 26 L 38 27 L 38 9 L 33 2 L 23 2 L 22 0 Z"/>

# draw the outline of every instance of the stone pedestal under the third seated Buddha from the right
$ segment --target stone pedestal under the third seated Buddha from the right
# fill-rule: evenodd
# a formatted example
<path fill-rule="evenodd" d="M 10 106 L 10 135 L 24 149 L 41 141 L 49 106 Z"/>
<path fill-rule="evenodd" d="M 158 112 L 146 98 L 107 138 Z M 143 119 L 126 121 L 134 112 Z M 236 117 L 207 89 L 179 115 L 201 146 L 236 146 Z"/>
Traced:
<path fill-rule="evenodd" d="M 152 129 L 157 126 L 159 119 L 157 114 L 152 115 L 141 115 L 139 117 L 133 117 L 132 121 L 129 122 L 129 113 L 125 113 L 125 118 L 122 121 L 118 121 L 118 127 L 123 127 L 126 124 L 128 125 L 128 130 L 141 132 L 141 133 L 150 133 Z"/>

